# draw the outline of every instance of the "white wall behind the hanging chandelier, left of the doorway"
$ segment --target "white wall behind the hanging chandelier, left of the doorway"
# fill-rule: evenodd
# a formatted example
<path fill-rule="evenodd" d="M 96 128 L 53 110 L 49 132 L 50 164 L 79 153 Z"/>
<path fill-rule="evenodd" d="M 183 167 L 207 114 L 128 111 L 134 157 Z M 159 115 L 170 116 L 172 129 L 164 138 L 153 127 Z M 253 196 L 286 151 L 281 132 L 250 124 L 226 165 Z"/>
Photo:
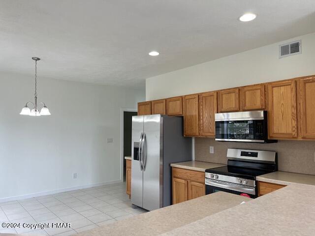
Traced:
<path fill-rule="evenodd" d="M 52 115 L 21 116 L 33 80 L 0 74 L 0 201 L 121 180 L 121 108 L 136 108 L 144 89 L 39 78 L 38 99 Z"/>

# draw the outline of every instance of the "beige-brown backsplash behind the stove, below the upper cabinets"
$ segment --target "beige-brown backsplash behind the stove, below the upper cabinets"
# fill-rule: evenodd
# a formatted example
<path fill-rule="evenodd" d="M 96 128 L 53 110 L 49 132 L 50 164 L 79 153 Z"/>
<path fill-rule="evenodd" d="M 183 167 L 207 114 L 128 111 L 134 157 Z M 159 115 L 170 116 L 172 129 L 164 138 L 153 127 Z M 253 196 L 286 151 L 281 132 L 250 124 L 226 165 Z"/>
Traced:
<path fill-rule="evenodd" d="M 214 153 L 209 151 L 214 147 Z M 218 142 L 195 138 L 195 160 L 226 164 L 227 148 L 272 150 L 278 152 L 278 170 L 315 175 L 315 141 L 279 140 L 273 144 Z"/>

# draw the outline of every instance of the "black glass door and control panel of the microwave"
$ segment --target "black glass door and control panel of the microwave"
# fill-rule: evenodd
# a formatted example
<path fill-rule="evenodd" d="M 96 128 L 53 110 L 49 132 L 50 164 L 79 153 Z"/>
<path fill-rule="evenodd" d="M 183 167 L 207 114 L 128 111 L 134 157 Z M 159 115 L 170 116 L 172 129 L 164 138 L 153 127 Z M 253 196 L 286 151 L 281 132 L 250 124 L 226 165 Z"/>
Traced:
<path fill-rule="evenodd" d="M 216 138 L 263 140 L 263 120 L 216 121 Z"/>

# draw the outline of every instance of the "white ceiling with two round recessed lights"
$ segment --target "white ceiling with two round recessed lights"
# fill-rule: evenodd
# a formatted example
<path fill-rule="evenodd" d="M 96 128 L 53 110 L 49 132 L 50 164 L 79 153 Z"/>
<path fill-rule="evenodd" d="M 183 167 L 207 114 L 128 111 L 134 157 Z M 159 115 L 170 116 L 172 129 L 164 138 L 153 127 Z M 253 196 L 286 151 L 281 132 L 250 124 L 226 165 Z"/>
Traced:
<path fill-rule="evenodd" d="M 39 77 L 142 87 L 314 31 L 315 0 L 0 0 L 0 71 L 32 75 L 36 56 Z"/>

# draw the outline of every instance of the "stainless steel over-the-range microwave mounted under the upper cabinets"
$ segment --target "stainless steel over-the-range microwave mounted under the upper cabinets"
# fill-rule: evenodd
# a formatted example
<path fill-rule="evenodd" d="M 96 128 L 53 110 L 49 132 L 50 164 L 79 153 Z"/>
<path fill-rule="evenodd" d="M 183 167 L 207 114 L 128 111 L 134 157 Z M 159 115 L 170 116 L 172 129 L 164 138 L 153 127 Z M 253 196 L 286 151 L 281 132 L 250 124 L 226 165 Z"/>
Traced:
<path fill-rule="evenodd" d="M 268 140 L 267 111 L 217 113 L 216 140 L 275 143 Z"/>

